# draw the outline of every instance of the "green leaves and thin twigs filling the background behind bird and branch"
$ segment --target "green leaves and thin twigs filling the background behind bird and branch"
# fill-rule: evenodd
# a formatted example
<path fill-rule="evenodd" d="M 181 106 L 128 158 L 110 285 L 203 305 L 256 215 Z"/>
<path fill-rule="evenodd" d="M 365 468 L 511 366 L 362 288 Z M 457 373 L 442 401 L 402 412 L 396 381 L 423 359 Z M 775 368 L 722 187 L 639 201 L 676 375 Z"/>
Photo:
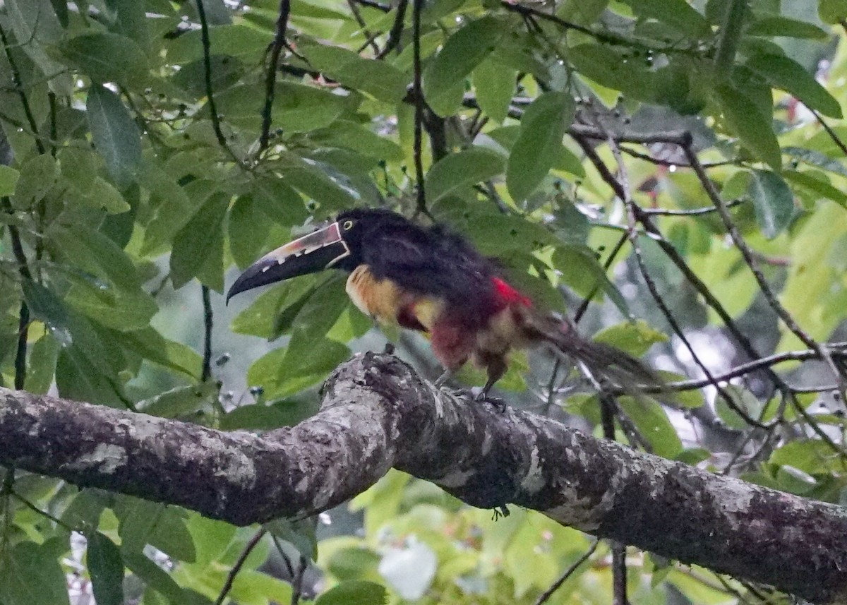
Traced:
<path fill-rule="evenodd" d="M 340 275 L 224 306 L 262 253 L 384 206 L 452 225 L 551 309 L 590 298 L 580 330 L 668 380 L 786 353 L 779 375 L 623 399 L 615 436 L 847 500 L 842 349 L 800 364 L 844 335 L 847 2 L 200 2 L 0 3 L 3 385 L 269 430 L 386 341 L 435 377 L 425 339 L 374 328 Z M 545 352 L 498 386 L 602 435 L 596 397 Z M 349 508 L 263 528 L 3 472 L 2 605 L 612 601 L 612 547 L 396 471 Z M 625 563 L 633 603 L 786 600 L 633 549 Z"/>

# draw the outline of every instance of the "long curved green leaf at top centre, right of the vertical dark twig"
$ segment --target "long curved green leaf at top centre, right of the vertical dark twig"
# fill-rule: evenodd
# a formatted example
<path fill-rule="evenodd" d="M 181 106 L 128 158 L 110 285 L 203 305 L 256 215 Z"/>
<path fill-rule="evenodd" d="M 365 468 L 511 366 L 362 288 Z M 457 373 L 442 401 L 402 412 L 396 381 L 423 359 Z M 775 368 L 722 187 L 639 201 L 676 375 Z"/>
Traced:
<path fill-rule="evenodd" d="M 440 53 L 424 69 L 424 97 L 436 114 L 451 114 L 456 107 L 455 89 L 494 51 L 507 31 L 501 19 L 486 16 L 447 38 Z"/>

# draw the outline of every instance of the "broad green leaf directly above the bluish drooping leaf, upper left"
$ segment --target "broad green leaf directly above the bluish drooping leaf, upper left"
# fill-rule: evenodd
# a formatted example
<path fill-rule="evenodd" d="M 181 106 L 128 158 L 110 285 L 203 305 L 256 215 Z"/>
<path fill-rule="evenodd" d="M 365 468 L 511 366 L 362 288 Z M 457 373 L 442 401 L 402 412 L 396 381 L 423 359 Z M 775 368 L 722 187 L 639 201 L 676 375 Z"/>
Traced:
<path fill-rule="evenodd" d="M 79 65 L 97 84 L 120 82 L 137 88 L 147 82 L 147 56 L 130 38 L 102 31 L 70 38 L 59 48 L 58 57 Z"/>

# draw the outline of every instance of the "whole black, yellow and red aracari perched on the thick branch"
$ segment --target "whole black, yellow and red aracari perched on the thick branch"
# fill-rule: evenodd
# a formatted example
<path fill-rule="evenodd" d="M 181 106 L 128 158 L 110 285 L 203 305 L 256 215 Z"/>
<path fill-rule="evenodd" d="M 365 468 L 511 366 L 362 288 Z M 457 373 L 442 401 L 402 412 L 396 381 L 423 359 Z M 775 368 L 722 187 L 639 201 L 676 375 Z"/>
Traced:
<path fill-rule="evenodd" d="M 462 236 L 422 227 L 401 214 L 352 209 L 335 222 L 259 258 L 235 280 L 235 294 L 322 269 L 350 273 L 346 291 L 364 314 L 403 328 L 429 332 L 446 372 L 468 360 L 487 370 L 478 398 L 507 369 L 512 348 L 547 344 L 596 379 L 627 390 L 654 385 L 655 373 L 615 347 L 585 340 L 567 320 L 536 308 L 504 279 L 496 262 Z"/>

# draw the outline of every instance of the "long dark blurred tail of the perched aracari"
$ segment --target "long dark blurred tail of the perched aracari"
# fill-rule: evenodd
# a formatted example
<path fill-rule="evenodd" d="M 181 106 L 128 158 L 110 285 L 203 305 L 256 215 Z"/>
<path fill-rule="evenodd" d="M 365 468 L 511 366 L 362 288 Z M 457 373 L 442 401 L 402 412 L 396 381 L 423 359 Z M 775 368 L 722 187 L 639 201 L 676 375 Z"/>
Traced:
<path fill-rule="evenodd" d="M 661 388 L 662 378 L 639 359 L 617 347 L 602 342 L 589 341 L 580 336 L 574 326 L 552 315 L 529 314 L 524 325 L 534 340 L 545 341 L 556 352 L 561 352 L 578 364 L 595 383 L 611 382 L 633 395 L 645 389 Z"/>

